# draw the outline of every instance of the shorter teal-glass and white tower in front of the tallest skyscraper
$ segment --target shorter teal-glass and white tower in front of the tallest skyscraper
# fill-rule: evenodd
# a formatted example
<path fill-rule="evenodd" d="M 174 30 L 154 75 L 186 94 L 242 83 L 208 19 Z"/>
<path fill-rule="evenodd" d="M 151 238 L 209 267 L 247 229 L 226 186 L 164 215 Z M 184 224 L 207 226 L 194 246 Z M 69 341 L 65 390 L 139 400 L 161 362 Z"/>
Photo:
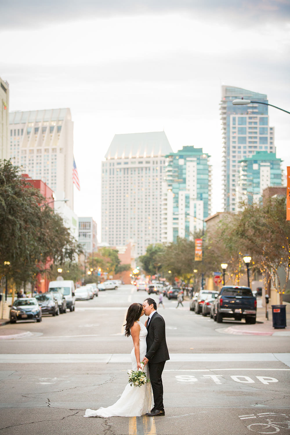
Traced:
<path fill-rule="evenodd" d="M 237 210 L 246 204 L 259 203 L 263 200 L 263 190 L 267 187 L 282 186 L 282 160 L 276 153 L 257 151 L 251 157 L 239 162 L 239 182 L 237 184 Z"/>

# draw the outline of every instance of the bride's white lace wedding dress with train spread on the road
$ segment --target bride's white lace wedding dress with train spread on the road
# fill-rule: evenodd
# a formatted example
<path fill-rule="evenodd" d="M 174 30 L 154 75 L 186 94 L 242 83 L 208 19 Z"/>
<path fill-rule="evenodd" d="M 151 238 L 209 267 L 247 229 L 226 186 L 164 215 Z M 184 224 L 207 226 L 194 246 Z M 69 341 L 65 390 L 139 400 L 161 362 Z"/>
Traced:
<path fill-rule="evenodd" d="M 147 329 L 143 323 L 140 325 L 140 361 L 143 360 L 146 351 L 146 336 Z M 137 361 L 135 357 L 135 349 L 132 349 L 130 354 L 132 361 L 132 370 L 137 370 Z M 144 367 L 144 372 L 149 378 L 148 365 Z M 141 387 L 133 387 L 129 383 L 126 385 L 121 397 L 114 405 L 108 408 L 99 408 L 96 411 L 86 409 L 84 417 L 139 417 L 140 415 L 150 412 L 151 408 L 151 384 L 148 382 Z"/>

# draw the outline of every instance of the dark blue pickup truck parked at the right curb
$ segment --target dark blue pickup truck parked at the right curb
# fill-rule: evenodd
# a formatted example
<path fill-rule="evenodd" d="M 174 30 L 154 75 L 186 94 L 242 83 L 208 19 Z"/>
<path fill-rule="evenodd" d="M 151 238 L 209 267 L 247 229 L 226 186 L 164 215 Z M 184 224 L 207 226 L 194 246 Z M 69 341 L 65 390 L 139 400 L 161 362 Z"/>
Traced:
<path fill-rule="evenodd" d="M 225 285 L 214 301 L 213 320 L 221 323 L 223 318 L 245 319 L 256 323 L 257 299 L 250 287 Z"/>

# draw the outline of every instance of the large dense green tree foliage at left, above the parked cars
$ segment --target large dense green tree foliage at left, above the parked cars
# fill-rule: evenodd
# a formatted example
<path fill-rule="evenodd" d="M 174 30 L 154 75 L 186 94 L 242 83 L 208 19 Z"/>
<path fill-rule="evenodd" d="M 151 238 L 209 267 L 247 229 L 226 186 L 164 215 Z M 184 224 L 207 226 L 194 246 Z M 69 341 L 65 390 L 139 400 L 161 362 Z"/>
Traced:
<path fill-rule="evenodd" d="M 18 167 L 0 161 L 0 275 L 33 281 L 47 270 L 47 259 L 73 261 L 80 251 L 40 191 L 21 178 Z"/>

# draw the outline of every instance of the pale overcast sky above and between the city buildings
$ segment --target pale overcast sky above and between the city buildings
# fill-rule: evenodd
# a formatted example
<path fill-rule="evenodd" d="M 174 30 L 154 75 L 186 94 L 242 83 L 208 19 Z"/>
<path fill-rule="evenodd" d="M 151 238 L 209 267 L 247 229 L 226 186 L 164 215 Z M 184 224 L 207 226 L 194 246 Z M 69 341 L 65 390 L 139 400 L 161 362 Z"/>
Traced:
<path fill-rule="evenodd" d="M 220 210 L 221 85 L 290 110 L 289 0 L 0 0 L 0 77 L 10 110 L 70 107 L 74 208 L 100 230 L 101 161 L 114 134 L 162 131 L 203 147 Z M 269 108 L 290 165 L 290 115 Z M 146 212 L 146 211 L 145 211 Z M 100 241 L 100 231 L 98 238 Z"/>

